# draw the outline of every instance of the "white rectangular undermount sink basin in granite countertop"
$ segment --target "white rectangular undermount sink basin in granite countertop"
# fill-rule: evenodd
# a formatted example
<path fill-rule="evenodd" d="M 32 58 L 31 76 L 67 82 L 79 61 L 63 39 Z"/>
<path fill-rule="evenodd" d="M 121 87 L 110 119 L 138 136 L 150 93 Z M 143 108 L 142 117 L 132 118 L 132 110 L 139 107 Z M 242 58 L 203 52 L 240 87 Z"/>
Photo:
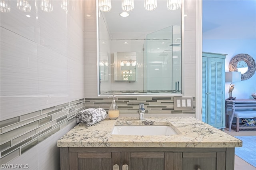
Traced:
<path fill-rule="evenodd" d="M 116 125 L 112 134 L 122 135 L 174 135 L 178 134 L 167 125 Z"/>

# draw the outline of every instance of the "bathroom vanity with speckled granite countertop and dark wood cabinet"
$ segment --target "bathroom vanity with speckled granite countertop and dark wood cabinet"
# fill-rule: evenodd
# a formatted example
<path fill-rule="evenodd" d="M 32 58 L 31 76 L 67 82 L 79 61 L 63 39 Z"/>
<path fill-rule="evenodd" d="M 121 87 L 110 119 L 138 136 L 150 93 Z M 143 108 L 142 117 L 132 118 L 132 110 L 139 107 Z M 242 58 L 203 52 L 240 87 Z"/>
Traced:
<path fill-rule="evenodd" d="M 121 125 L 138 129 L 113 131 Z M 153 127 L 135 134 L 146 126 L 173 132 Z M 242 141 L 193 117 L 119 117 L 90 127 L 80 123 L 57 144 L 61 170 L 234 170 L 234 148 Z"/>

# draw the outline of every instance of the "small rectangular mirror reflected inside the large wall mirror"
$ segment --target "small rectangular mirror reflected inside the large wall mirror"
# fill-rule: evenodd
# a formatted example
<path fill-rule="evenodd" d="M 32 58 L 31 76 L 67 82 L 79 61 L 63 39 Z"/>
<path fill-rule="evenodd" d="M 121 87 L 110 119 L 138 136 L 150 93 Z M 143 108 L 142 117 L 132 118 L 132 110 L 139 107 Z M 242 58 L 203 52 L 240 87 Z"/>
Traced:
<path fill-rule="evenodd" d="M 136 52 L 114 52 L 115 81 L 136 81 Z"/>

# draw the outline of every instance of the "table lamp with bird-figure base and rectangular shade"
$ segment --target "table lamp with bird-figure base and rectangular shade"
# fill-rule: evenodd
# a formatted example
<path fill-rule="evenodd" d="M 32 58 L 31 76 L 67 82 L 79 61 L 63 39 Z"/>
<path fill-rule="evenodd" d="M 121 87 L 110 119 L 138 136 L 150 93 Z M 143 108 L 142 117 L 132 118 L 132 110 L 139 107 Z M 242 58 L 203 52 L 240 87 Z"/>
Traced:
<path fill-rule="evenodd" d="M 235 100 L 235 97 L 232 97 L 232 91 L 234 90 L 234 84 L 232 85 L 233 82 L 241 82 L 241 72 L 238 71 L 229 71 L 225 72 L 225 82 L 231 82 L 229 85 L 229 97 L 228 100 Z"/>

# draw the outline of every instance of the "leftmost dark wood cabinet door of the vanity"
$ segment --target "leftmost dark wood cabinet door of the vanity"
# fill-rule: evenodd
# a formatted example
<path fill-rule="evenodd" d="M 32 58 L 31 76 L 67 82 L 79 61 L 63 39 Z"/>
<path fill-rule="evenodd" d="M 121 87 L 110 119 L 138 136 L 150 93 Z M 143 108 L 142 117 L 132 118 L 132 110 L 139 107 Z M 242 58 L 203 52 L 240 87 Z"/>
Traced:
<path fill-rule="evenodd" d="M 113 170 L 121 163 L 120 152 L 70 152 L 70 170 Z"/>

